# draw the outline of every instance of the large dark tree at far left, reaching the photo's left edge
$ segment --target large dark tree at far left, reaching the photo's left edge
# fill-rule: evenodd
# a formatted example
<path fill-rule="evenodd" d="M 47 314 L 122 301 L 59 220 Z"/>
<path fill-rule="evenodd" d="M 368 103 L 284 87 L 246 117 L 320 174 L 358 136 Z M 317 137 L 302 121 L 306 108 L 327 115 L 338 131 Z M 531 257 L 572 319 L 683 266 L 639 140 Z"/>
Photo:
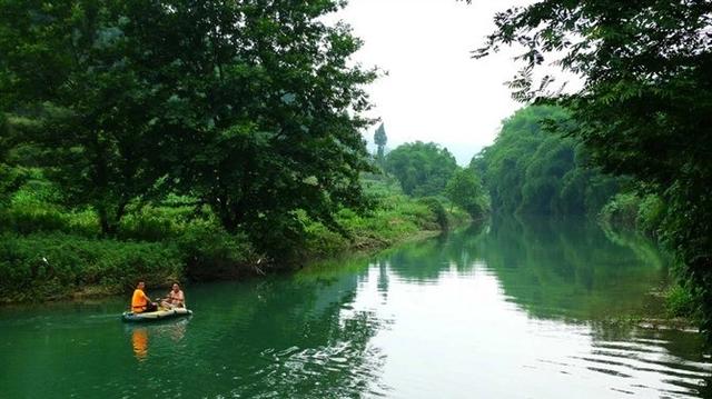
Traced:
<path fill-rule="evenodd" d="M 105 233 L 166 172 L 168 131 L 156 120 L 171 89 L 152 79 L 166 60 L 136 33 L 161 34 L 146 21 L 161 7 L 0 2 L 0 107 L 40 123 L 21 134 L 69 205 L 96 209 Z"/>

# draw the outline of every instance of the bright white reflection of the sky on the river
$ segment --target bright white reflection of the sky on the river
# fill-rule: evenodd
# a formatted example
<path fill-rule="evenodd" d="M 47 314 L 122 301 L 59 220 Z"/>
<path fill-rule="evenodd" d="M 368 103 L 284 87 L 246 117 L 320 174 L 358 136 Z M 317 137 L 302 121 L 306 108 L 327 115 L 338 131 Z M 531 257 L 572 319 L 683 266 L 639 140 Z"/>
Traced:
<path fill-rule="evenodd" d="M 384 279 L 386 302 L 378 295 Z M 671 353 L 675 335 L 637 330 L 606 342 L 586 322 L 532 318 L 483 263 L 466 276 L 453 265 L 419 283 L 373 266 L 367 281 L 354 308 L 394 320 L 372 345 L 384 349 L 382 381 L 396 398 L 571 398 L 574 390 L 577 398 L 689 397 L 712 371 Z"/>

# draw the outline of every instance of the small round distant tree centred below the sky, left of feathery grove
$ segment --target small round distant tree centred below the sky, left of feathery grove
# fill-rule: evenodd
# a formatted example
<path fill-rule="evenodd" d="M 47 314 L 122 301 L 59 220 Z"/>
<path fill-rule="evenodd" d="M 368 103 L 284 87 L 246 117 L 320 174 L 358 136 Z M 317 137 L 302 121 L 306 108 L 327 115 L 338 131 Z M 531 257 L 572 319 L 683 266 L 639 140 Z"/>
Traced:
<path fill-rule="evenodd" d="M 398 146 L 386 156 L 385 169 L 408 196 L 438 196 L 457 170 L 455 157 L 434 142 Z"/>

